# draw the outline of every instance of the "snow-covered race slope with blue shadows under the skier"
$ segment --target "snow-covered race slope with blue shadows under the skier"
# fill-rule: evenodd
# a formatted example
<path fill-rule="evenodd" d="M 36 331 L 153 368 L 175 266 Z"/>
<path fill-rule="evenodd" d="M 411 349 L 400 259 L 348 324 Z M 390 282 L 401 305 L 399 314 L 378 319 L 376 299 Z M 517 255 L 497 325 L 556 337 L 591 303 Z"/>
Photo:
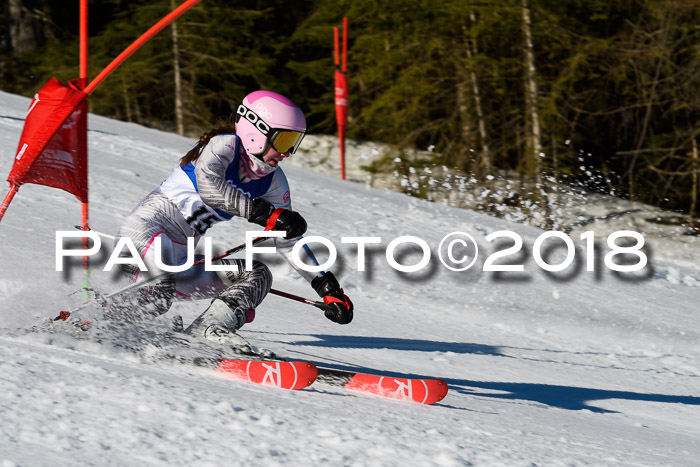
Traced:
<path fill-rule="evenodd" d="M 28 104 L 0 92 L 0 174 L 10 171 Z M 89 128 L 91 225 L 114 233 L 193 141 L 96 116 Z M 285 171 L 309 234 L 338 246 L 334 270 L 356 319 L 341 327 L 269 297 L 242 334 L 317 363 L 440 377 L 451 388 L 445 400 L 420 406 L 322 385 L 283 392 L 68 335 L 52 345 L 46 335 L 23 335 L 78 305 L 70 294 L 82 282 L 77 266 L 54 270 L 55 232 L 79 223 L 80 203 L 25 185 L 0 223 L 3 467 L 698 464 L 700 271 L 652 257 L 642 274 L 614 274 L 602 261 L 587 272 L 577 242 L 576 265 L 546 274 L 533 260 L 542 233 L 534 228 L 309 169 Z M 223 250 L 241 243 L 247 226 L 219 224 L 209 236 Z M 458 230 L 482 252 L 467 272 L 437 260 L 440 240 Z M 484 237 L 499 230 L 523 238 L 524 250 L 508 260 L 524 272 L 481 270 L 495 251 Z M 401 235 L 429 243 L 425 270 L 387 264 L 384 251 Z M 368 250 L 367 271 L 357 271 L 342 236 L 382 238 Z M 600 259 L 607 247 L 598 241 Z M 419 258 L 402 253 L 406 264 Z M 562 257 L 557 250 L 550 261 Z M 276 288 L 313 297 L 285 263 L 270 264 Z M 115 288 L 99 269 L 93 284 Z M 187 324 L 204 306 L 179 303 L 169 315 Z"/>

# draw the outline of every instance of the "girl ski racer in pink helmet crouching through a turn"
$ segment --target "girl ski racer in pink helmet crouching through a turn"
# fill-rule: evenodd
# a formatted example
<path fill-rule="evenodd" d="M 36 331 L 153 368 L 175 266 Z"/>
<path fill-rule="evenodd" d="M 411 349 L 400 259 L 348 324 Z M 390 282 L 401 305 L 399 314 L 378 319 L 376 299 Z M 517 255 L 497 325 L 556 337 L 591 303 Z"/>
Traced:
<path fill-rule="evenodd" d="M 306 231 L 306 221 L 291 210 L 289 184 L 279 167 L 296 152 L 306 132 L 301 109 L 270 91 L 248 94 L 236 111 L 235 127 L 221 126 L 204 133 L 172 174 L 146 196 L 119 229 L 117 241 L 129 237 L 148 270 L 155 267 L 153 242 L 159 237 L 161 259 L 168 265 L 187 260 L 187 239 L 195 244 L 216 222 L 242 217 L 248 222 L 286 232 L 276 238 L 277 251 L 318 293 L 330 310 L 326 318 L 347 324 L 353 305 L 331 272 L 310 273 L 291 261 L 294 244 Z M 306 264 L 318 264 L 308 248 Z M 152 314 L 167 312 L 176 297 L 210 298 L 209 307 L 185 332 L 220 343 L 241 345 L 235 331 L 255 318 L 255 308 L 272 284 L 270 270 L 255 261 L 245 270 L 242 259 L 221 259 L 226 271 L 193 268 L 173 278 L 138 289 L 132 303 Z M 122 265 L 131 282 L 139 269 Z M 124 308 L 133 307 L 124 304 Z"/>

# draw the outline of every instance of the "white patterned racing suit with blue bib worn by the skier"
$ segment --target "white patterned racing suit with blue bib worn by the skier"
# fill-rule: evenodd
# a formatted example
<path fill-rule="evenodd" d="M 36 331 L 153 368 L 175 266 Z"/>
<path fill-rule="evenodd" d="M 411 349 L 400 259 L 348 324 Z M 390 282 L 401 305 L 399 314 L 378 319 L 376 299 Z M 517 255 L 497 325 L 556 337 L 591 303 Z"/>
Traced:
<path fill-rule="evenodd" d="M 156 237 L 161 238 L 162 262 L 181 265 L 187 260 L 188 237 L 194 237 L 196 244 L 216 222 L 236 216 L 248 219 L 253 199 L 261 197 L 275 208 L 291 209 L 289 184 L 281 168 L 248 183 L 240 180 L 238 166 L 239 151 L 242 150 L 240 139 L 235 134 L 213 137 L 201 149 L 194 163 L 175 168 L 160 187 L 148 194 L 126 218 L 117 241 L 121 237 L 131 238 L 149 275 L 162 272 L 155 265 L 153 242 Z M 262 230 L 256 225 L 247 228 Z M 275 246 L 290 265 L 311 282 L 316 275 L 299 269 L 291 261 L 292 247 L 300 238 L 275 238 Z M 120 255 L 127 256 L 128 253 L 122 251 Z M 307 247 L 302 249 L 302 261 L 318 264 Z M 138 289 L 123 308 L 136 305 L 152 314 L 163 314 L 174 299 L 218 297 L 245 310 L 246 321 L 252 321 L 255 308 L 272 285 L 270 270 L 255 261 L 252 271 L 246 271 L 243 259 L 224 258 L 213 264 L 228 265 L 232 270 L 205 271 L 204 266 L 191 268 L 175 274 L 172 279 Z M 130 282 L 143 280 L 144 273 L 136 265 L 121 266 Z"/>

